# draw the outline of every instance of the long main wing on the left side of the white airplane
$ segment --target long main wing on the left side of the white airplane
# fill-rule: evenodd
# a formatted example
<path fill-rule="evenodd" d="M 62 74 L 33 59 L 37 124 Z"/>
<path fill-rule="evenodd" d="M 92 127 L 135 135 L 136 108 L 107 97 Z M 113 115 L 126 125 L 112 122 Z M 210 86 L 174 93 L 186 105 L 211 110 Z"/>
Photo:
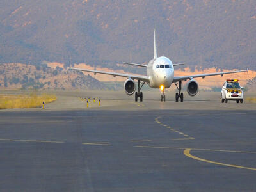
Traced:
<path fill-rule="evenodd" d="M 109 76 L 119 76 L 119 77 L 127 77 L 127 78 L 131 78 L 131 79 L 136 79 L 136 80 L 140 80 L 140 81 L 144 81 L 146 83 L 149 83 L 149 79 L 148 76 L 140 76 L 140 75 L 135 75 L 135 74 L 123 74 L 123 73 L 116 73 L 116 72 L 106 72 L 106 71 L 101 71 L 101 70 L 90 70 L 90 69 L 84 69 L 84 68 L 68 68 L 70 70 L 79 70 L 79 71 L 84 71 L 84 72 L 92 72 L 95 75 L 96 74 L 106 74 Z"/>

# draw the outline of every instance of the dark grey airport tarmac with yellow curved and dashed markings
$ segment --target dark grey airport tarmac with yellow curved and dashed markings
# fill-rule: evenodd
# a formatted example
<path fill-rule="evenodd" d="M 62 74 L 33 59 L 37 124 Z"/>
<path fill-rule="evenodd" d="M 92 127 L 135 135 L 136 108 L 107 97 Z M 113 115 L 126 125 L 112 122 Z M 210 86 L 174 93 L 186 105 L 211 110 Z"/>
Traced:
<path fill-rule="evenodd" d="M 122 94 L 0 111 L 0 191 L 255 191 L 256 104 Z"/>

